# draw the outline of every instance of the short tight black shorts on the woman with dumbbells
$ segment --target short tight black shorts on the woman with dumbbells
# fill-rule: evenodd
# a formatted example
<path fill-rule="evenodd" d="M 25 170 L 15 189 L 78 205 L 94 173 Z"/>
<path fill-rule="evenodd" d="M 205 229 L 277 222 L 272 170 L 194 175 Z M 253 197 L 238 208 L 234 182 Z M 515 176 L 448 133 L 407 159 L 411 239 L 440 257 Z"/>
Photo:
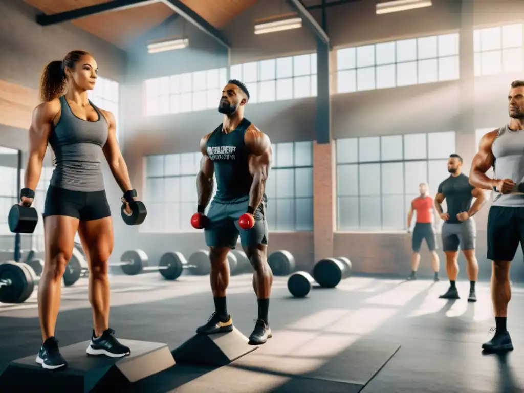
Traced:
<path fill-rule="evenodd" d="M 65 215 L 80 221 L 90 221 L 110 217 L 111 210 L 104 190 L 72 191 L 50 185 L 42 215 Z"/>

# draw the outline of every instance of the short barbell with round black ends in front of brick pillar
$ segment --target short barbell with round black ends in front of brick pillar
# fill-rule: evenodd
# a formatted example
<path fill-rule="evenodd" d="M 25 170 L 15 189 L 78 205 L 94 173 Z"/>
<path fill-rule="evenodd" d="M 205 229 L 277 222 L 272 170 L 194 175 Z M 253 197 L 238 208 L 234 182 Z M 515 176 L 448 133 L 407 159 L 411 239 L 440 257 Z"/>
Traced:
<path fill-rule="evenodd" d="M 326 258 L 313 267 L 313 275 L 305 271 L 293 273 L 288 279 L 288 290 L 296 298 L 306 296 L 316 282 L 322 288 L 334 288 L 350 277 L 351 261 L 346 257 Z"/>

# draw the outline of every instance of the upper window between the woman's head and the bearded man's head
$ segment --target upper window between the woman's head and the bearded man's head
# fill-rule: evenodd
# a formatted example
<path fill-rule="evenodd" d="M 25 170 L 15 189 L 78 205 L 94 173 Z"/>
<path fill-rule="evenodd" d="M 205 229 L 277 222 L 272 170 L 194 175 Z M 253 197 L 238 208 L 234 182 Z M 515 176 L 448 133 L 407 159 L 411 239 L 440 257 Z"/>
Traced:
<path fill-rule="evenodd" d="M 146 80 L 146 114 L 193 112 L 219 107 L 227 83 L 226 68 Z"/>

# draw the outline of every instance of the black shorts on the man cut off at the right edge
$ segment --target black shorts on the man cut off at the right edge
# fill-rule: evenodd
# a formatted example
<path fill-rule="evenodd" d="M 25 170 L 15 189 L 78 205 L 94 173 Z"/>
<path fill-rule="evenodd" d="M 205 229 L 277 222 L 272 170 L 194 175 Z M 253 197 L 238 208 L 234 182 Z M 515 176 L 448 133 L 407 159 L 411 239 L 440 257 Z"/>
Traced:
<path fill-rule="evenodd" d="M 519 243 L 524 244 L 524 207 L 491 206 L 487 241 L 488 259 L 513 260 Z"/>

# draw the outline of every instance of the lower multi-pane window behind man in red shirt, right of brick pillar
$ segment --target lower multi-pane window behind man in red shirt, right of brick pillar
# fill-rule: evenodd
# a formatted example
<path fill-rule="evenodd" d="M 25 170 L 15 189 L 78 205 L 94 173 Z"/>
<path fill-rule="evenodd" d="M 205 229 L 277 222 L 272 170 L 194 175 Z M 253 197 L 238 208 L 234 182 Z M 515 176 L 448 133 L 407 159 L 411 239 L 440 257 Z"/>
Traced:
<path fill-rule="evenodd" d="M 419 184 L 434 196 L 455 152 L 454 131 L 337 139 L 339 231 L 405 229 Z"/>

